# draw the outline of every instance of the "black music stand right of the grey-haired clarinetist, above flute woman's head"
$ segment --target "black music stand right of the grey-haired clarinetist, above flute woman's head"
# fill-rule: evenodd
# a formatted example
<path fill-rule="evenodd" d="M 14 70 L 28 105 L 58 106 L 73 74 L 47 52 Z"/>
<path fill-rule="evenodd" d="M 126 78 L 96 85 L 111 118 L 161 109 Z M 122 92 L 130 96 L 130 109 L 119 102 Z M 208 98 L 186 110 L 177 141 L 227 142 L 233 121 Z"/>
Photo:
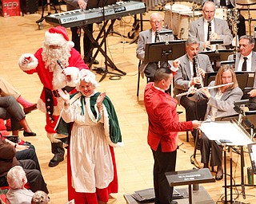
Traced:
<path fill-rule="evenodd" d="M 227 58 L 230 56 L 230 54 L 234 54 L 233 50 L 229 49 L 218 49 L 215 51 L 206 51 L 206 52 L 200 52 L 201 54 L 206 54 L 210 58 L 210 61 L 214 63 L 214 71 L 217 70 L 217 62 L 218 61 L 226 61 Z"/>

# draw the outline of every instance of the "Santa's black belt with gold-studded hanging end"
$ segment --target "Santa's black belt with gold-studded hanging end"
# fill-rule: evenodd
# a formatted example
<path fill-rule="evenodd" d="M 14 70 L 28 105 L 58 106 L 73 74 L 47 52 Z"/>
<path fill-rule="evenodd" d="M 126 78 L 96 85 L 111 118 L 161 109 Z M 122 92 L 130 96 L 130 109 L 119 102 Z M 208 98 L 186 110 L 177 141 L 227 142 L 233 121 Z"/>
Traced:
<path fill-rule="evenodd" d="M 74 87 L 66 86 L 62 88 L 62 91 L 71 92 Z M 50 121 L 54 123 L 54 97 L 59 97 L 58 89 L 51 90 L 49 88 L 44 87 L 45 90 L 45 100 L 46 100 L 46 112 L 50 116 Z"/>

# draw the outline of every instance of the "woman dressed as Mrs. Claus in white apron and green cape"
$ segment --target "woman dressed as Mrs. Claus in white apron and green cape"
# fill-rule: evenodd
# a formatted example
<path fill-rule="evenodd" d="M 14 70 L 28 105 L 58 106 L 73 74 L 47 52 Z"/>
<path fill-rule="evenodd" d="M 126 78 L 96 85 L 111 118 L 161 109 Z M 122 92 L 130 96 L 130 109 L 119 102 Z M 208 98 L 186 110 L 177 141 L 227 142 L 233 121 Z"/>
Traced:
<path fill-rule="evenodd" d="M 58 89 L 65 101 L 62 119 L 74 123 L 68 151 L 68 198 L 75 203 L 108 202 L 109 194 L 118 192 L 113 147 L 122 146 L 122 135 L 109 97 L 96 91 L 94 73 L 82 69 L 79 78 L 78 92 L 71 98 Z"/>

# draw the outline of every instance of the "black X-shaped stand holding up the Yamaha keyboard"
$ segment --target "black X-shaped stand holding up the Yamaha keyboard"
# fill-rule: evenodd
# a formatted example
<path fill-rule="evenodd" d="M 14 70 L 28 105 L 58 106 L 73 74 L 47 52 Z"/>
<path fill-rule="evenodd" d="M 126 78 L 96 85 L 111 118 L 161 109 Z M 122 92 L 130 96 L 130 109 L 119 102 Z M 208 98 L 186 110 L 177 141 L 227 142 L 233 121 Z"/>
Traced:
<path fill-rule="evenodd" d="M 112 19 L 111 22 L 110 22 L 110 25 L 107 27 L 107 24 L 110 20 L 106 20 L 106 22 L 104 22 L 103 26 L 102 26 L 102 29 L 100 30 L 100 32 L 98 33 L 98 36 L 96 38 L 94 38 L 93 36 L 93 33 L 91 33 L 88 29 L 87 29 L 87 26 L 82 26 L 82 29 L 84 30 L 85 34 L 89 37 L 91 43 L 92 43 L 92 48 L 91 49 L 94 49 L 94 48 L 97 48 L 96 52 L 94 53 L 91 61 L 90 61 L 90 64 L 89 64 L 89 67 L 91 67 L 91 65 L 93 64 L 95 58 L 97 57 L 98 53 L 102 53 L 102 55 L 106 58 L 106 66 L 110 66 L 112 69 L 114 69 L 114 71 L 118 71 L 118 73 L 112 73 L 114 74 L 115 76 L 125 76 L 126 73 L 123 72 L 122 70 L 118 69 L 116 67 L 116 65 L 114 65 L 114 62 L 111 61 L 110 57 L 107 56 L 107 51 L 106 51 L 106 45 L 105 45 L 105 50 L 102 49 L 102 45 L 106 44 L 106 37 L 108 36 L 108 34 L 111 32 L 111 30 L 113 30 L 113 26 L 114 26 L 114 22 L 115 22 L 116 19 Z M 106 32 L 105 32 L 106 30 Z M 103 37 L 102 37 L 102 34 L 103 34 Z M 100 41 L 102 37 L 102 41 Z M 96 47 L 95 47 L 96 46 Z M 92 50 L 91 50 L 92 51 Z M 102 79 L 99 80 L 102 81 L 105 77 L 106 77 L 106 74 L 107 73 L 110 73 L 108 71 L 103 71 L 103 76 L 102 76 Z"/>

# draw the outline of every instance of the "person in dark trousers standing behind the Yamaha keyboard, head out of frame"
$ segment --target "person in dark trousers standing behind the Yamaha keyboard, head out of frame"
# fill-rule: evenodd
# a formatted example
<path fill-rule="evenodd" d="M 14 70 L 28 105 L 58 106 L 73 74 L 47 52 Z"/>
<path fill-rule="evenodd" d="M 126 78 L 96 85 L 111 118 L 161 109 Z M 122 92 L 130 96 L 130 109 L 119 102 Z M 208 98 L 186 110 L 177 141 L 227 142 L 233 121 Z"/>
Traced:
<path fill-rule="evenodd" d="M 86 10 L 86 5 L 88 0 L 64 0 L 66 2 L 66 10 Z M 90 33 L 93 33 L 93 24 L 86 25 L 87 29 Z M 74 42 L 74 49 L 78 50 L 81 53 L 81 46 L 80 46 L 80 37 L 82 35 L 82 29 L 79 26 L 71 27 L 72 32 L 72 41 Z M 86 33 L 83 34 L 83 53 L 84 58 L 83 60 L 85 63 L 90 63 L 92 60 L 92 43 L 90 38 L 86 36 Z M 94 60 L 94 65 L 98 65 L 98 61 Z"/>

